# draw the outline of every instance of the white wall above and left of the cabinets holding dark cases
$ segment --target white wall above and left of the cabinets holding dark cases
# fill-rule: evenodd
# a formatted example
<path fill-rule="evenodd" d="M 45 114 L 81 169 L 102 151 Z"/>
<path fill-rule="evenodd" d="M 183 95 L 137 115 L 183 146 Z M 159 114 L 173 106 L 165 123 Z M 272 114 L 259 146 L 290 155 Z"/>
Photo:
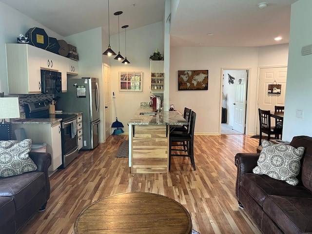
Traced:
<path fill-rule="evenodd" d="M 5 43 L 16 43 L 20 34 L 25 36 L 28 29 L 33 27 L 43 28 L 49 37 L 63 39 L 37 21 L 0 2 L 0 92 L 4 92 L 4 95 L 8 94 Z"/>

